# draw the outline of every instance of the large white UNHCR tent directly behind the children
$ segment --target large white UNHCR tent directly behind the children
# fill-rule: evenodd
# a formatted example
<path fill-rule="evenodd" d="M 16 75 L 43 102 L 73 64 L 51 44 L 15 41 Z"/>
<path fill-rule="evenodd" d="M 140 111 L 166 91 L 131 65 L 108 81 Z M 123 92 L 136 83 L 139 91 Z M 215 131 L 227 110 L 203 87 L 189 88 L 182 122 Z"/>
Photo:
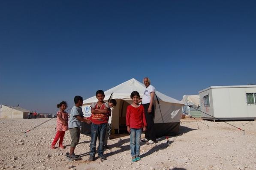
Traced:
<path fill-rule="evenodd" d="M 132 103 L 130 94 L 132 91 L 138 91 L 140 96 L 143 97 L 144 90 L 144 84 L 136 79 L 130 79 L 104 92 L 106 102 L 112 93 L 111 98 L 117 100 L 117 106 L 112 109 L 112 116 L 109 118 L 108 122 L 111 124 L 111 129 L 114 129 L 118 133 L 126 131 L 126 107 Z M 184 103 L 173 99 L 172 97 L 168 97 L 159 91 L 156 91 L 156 94 L 160 102 L 159 105 L 157 104 L 156 100 L 154 103 L 156 108 L 154 122 L 157 137 L 178 134 L 182 106 L 184 106 Z M 90 104 L 96 101 L 98 101 L 96 96 L 84 100 L 82 110 L 85 117 L 90 117 Z M 83 123 L 81 133 L 88 133 L 86 126 L 87 125 Z"/>

